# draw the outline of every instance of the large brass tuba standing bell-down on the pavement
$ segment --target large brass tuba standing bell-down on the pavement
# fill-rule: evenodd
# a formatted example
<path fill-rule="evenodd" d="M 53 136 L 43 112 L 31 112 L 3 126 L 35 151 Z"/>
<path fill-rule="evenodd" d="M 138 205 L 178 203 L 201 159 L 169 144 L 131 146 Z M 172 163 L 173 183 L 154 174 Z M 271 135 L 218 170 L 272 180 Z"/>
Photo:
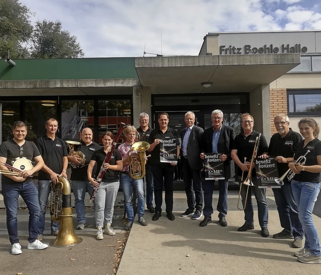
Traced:
<path fill-rule="evenodd" d="M 52 242 L 51 246 L 66 247 L 73 246 L 82 242 L 75 234 L 74 224 L 72 221 L 71 208 L 71 188 L 70 183 L 64 177 L 58 177 L 57 183 L 51 183 L 50 196 L 50 214 L 55 222 L 60 222 L 58 236 Z"/>

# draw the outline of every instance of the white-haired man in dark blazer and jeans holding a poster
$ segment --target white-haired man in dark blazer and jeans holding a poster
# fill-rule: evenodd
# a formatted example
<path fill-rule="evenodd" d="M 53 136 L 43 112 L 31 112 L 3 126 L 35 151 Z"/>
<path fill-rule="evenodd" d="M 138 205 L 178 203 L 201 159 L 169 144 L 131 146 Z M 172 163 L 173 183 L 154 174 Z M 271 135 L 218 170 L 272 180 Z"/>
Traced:
<path fill-rule="evenodd" d="M 211 120 L 213 127 L 204 130 L 202 139 L 202 153 L 201 159 L 205 159 L 204 153 L 221 153 L 220 159 L 224 162 L 224 180 L 219 182 L 219 201 L 217 203 L 217 211 L 219 212 L 219 223 L 221 226 L 227 226 L 227 188 L 228 182 L 233 175 L 231 175 L 231 150 L 235 137 L 235 131 L 232 127 L 222 124 L 223 112 L 221 110 L 214 110 L 212 112 Z M 204 191 L 204 220 L 200 222 L 200 226 L 206 226 L 212 222 L 212 200 L 214 191 L 213 180 L 203 180 Z"/>

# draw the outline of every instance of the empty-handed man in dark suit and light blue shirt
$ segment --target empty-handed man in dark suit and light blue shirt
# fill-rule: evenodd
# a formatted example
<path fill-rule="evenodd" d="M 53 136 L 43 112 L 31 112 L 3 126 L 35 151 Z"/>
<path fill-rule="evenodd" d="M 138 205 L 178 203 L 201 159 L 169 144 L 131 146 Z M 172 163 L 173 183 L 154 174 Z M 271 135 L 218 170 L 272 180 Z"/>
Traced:
<path fill-rule="evenodd" d="M 181 166 L 188 209 L 186 209 L 181 216 L 187 217 L 193 214 L 192 219 L 198 220 L 202 217 L 203 208 L 201 179 L 203 161 L 200 158 L 200 153 L 204 130 L 201 127 L 194 125 L 194 112 L 187 112 L 185 114 L 185 123 L 186 128 L 181 131 Z"/>

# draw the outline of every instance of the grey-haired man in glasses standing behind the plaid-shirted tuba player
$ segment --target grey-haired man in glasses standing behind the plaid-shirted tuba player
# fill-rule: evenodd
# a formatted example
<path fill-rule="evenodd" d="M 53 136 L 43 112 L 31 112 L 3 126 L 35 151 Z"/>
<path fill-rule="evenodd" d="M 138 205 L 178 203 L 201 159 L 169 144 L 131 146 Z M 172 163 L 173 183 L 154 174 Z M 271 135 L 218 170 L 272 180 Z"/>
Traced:
<path fill-rule="evenodd" d="M 139 133 L 141 142 L 148 142 L 149 134 L 153 130 L 148 126 L 148 123 L 149 123 L 149 115 L 144 112 L 140 113 L 139 114 L 140 126 L 137 128 L 137 132 Z M 150 165 L 150 161 L 148 161 L 148 158 L 145 165 L 145 172 L 146 173 L 145 173 L 144 180 L 146 183 L 146 205 L 150 213 L 155 213 L 155 208 L 152 205 L 154 184 L 153 184 L 153 177 L 151 172 L 151 165 Z"/>

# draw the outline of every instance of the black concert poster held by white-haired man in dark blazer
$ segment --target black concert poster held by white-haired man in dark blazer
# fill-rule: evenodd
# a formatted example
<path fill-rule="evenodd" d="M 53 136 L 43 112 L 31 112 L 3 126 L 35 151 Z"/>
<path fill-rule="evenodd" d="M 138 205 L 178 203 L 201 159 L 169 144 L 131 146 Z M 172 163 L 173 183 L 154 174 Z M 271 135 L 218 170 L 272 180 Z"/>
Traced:
<path fill-rule="evenodd" d="M 205 180 L 224 180 L 224 163 L 219 158 L 221 153 L 205 153 Z"/>

